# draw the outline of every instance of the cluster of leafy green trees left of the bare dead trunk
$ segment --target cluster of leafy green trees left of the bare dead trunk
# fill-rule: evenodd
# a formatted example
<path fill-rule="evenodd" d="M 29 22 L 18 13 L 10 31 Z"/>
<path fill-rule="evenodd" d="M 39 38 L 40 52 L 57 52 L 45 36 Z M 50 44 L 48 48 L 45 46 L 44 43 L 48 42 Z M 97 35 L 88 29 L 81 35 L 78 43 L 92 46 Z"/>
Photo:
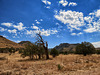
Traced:
<path fill-rule="evenodd" d="M 39 59 L 43 58 L 43 55 L 45 54 L 45 50 L 41 46 L 27 43 L 25 45 L 25 48 L 19 49 L 19 53 L 23 58 L 29 56 L 30 59 L 33 60 L 35 59 L 34 56 L 38 56 Z"/>

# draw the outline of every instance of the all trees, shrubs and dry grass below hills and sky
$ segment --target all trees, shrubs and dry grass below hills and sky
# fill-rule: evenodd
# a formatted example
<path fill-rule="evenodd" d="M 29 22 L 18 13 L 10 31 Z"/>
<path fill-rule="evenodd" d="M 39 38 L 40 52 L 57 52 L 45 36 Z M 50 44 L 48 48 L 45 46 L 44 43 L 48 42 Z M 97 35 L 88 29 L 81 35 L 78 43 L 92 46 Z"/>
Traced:
<path fill-rule="evenodd" d="M 59 50 L 56 50 L 55 48 L 53 48 L 50 53 L 48 52 L 48 43 L 43 40 L 43 37 L 40 34 L 37 34 L 37 41 L 35 44 L 29 41 L 24 41 L 21 43 L 21 46 L 23 45 L 24 47 L 22 48 L 0 48 L 0 75 L 100 74 L 100 55 L 94 54 L 95 52 L 100 54 L 100 51 L 95 50 L 94 46 L 89 42 L 82 42 L 81 44 L 66 44 L 67 46 L 64 44 L 64 47 L 66 48 L 59 49 L 61 53 L 60 55 L 58 52 Z M 75 47 L 76 52 L 74 50 Z M 8 55 L 9 53 L 11 54 L 10 56 Z M 77 55 L 74 53 L 77 53 Z M 56 57 L 57 55 L 59 56 L 52 59 L 52 56 L 49 54 L 53 57 Z M 85 57 L 79 54 L 83 54 Z M 49 59 L 49 57 L 51 60 L 44 60 L 44 58 Z"/>

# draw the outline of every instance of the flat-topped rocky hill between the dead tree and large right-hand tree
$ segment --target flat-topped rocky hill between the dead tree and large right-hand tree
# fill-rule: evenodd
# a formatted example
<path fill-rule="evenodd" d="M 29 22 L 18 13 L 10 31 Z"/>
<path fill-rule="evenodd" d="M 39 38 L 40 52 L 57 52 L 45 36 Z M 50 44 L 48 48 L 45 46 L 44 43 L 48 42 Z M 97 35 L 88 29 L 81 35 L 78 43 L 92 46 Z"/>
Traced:
<path fill-rule="evenodd" d="M 60 45 L 54 47 L 60 52 L 65 52 L 65 51 L 75 51 L 75 47 L 78 44 L 69 44 L 69 43 L 61 43 Z"/>

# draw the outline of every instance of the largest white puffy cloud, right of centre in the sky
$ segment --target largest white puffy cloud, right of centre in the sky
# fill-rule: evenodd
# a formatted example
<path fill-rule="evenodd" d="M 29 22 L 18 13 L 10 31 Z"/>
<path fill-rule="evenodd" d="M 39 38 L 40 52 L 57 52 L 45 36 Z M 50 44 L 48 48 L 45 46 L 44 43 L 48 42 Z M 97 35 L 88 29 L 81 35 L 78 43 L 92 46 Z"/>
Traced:
<path fill-rule="evenodd" d="M 84 26 L 84 17 L 82 12 L 60 10 L 58 14 L 54 15 L 54 17 L 66 24 L 71 31 L 74 29 L 80 30 L 80 27 Z"/>

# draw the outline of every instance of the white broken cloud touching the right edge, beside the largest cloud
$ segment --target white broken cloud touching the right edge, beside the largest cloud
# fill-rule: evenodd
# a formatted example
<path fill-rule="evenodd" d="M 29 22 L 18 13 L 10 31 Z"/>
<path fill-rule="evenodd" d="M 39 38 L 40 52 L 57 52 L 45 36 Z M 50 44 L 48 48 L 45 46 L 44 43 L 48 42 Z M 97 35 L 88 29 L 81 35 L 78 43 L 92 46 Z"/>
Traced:
<path fill-rule="evenodd" d="M 84 20 L 87 22 L 86 33 L 93 33 L 100 31 L 100 9 L 89 13 L 89 16 L 84 17 Z"/>

